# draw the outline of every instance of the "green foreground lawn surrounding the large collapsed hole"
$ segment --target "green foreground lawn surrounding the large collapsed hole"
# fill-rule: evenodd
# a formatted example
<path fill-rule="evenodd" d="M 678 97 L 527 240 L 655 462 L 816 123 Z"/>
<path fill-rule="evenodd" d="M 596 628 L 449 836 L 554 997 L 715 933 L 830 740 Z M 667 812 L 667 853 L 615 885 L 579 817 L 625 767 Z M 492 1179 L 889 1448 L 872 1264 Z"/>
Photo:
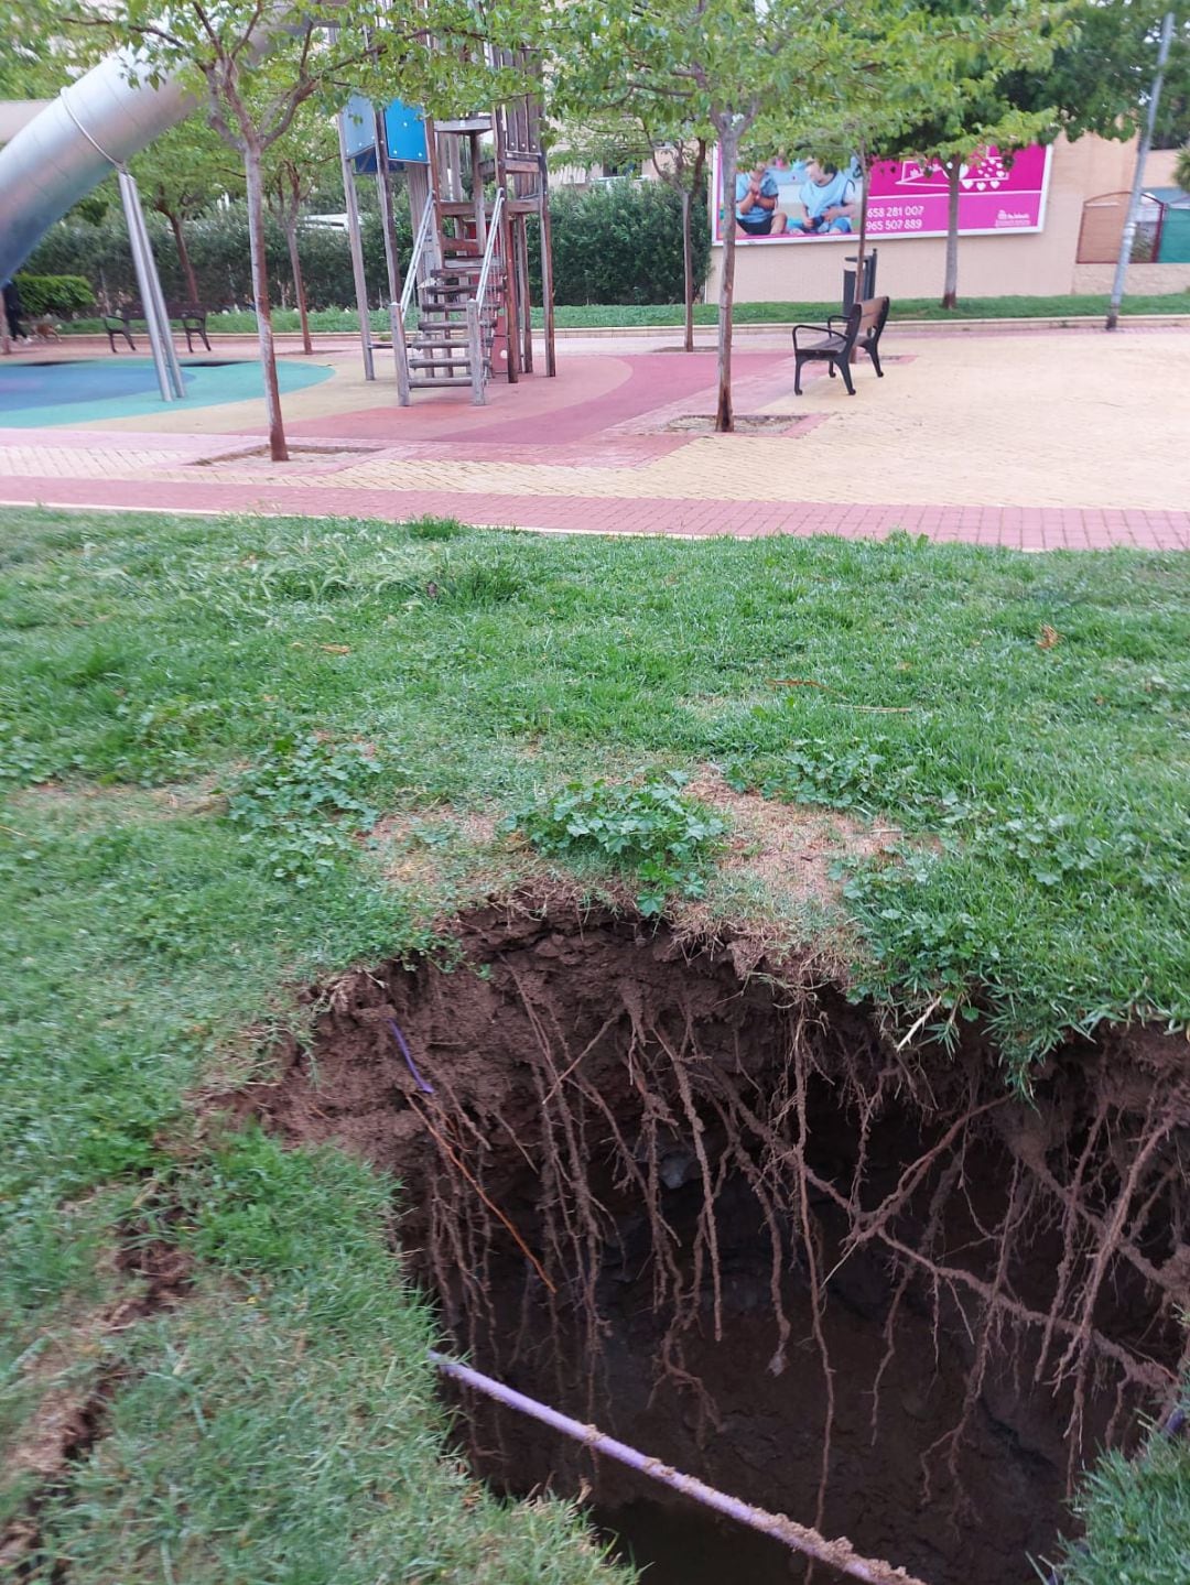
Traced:
<path fill-rule="evenodd" d="M 187 1105 L 296 987 L 436 948 L 539 862 L 471 816 L 520 813 L 593 889 L 629 857 L 646 899 L 754 916 L 905 1027 L 986 1019 L 1006 1083 L 1070 1029 L 1190 1022 L 1177 555 L 32 510 L 0 547 L 0 1434 L 109 1398 L 30 1579 L 605 1577 L 569 1509 L 444 1455 L 388 1187 Z M 708 767 L 903 840 L 783 913 L 680 783 L 612 786 Z M 399 835 L 358 837 L 380 812 Z M 117 1232 L 190 1289 L 97 1349 Z M 1090 1491 L 1071 1585 L 1173 1577 L 1185 1457 L 1154 1461 L 1165 1517 L 1111 1530 L 1147 1479 Z"/>

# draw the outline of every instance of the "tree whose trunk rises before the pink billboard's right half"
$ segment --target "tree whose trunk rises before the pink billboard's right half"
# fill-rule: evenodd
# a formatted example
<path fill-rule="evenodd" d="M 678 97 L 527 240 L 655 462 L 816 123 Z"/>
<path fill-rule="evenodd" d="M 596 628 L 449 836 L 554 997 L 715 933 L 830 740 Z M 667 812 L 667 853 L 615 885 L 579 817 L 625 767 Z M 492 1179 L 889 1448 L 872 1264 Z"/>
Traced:
<path fill-rule="evenodd" d="M 959 304 L 959 197 L 963 168 L 995 147 L 1011 155 L 1054 138 L 1052 101 L 1030 105 L 1020 86 L 1036 84 L 1065 35 L 1063 3 L 1049 0 L 925 0 L 930 108 L 903 128 L 886 157 L 917 158 L 946 173 L 946 273 L 943 307 Z M 1032 76 L 1028 76 L 1032 74 Z"/>

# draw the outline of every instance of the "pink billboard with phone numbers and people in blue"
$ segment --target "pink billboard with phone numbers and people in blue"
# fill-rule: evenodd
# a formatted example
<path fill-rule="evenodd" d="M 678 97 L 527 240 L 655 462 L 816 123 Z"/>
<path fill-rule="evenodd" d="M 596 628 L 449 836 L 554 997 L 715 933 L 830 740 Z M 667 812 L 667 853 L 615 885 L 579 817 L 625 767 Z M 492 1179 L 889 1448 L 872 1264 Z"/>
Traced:
<path fill-rule="evenodd" d="M 715 151 L 713 239 L 723 241 L 729 212 Z M 959 192 L 959 231 L 995 236 L 1039 231 L 1046 212 L 1049 149 L 1020 149 L 1001 158 L 995 147 L 965 165 Z M 789 160 L 781 154 L 740 170 L 735 178 L 738 243 L 854 241 L 864 198 L 857 162 L 837 166 L 822 158 Z M 944 236 L 949 193 L 946 173 L 917 160 L 881 160 L 868 171 L 868 235 Z"/>

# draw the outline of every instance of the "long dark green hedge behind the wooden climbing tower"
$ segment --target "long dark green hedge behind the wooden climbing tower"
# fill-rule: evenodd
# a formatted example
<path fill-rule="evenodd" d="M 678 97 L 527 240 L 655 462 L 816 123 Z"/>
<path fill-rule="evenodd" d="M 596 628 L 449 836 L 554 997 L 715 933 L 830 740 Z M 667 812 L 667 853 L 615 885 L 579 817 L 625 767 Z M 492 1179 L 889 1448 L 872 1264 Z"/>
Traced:
<path fill-rule="evenodd" d="M 551 198 L 551 217 L 555 301 L 681 301 L 681 201 L 672 189 L 659 182 L 634 181 L 607 182 L 586 192 L 559 189 Z M 146 219 L 166 298 L 189 298 L 166 220 L 162 216 Z M 412 250 L 404 193 L 398 195 L 396 231 L 398 257 L 404 262 Z M 211 309 L 246 307 L 252 301 L 252 281 L 244 206 L 236 204 L 189 220 L 185 241 L 198 277 L 200 300 Z M 702 284 L 710 260 L 710 238 L 700 203 L 694 212 L 694 243 L 696 276 Z M 363 216 L 363 247 L 369 298 L 380 304 L 385 263 L 383 236 L 376 214 Z M 299 249 L 311 307 L 352 304 L 355 285 L 345 233 L 306 225 Z M 293 284 L 285 238 L 271 222 L 266 260 L 273 303 L 292 306 Z M 30 269 L 46 276 L 84 276 L 101 303 L 139 296 L 128 233 L 119 211 L 109 211 L 98 223 L 78 216 L 60 220 L 35 249 Z M 540 301 L 536 227 L 531 236 L 531 269 L 534 301 Z M 29 298 L 25 303 L 35 312 Z"/>

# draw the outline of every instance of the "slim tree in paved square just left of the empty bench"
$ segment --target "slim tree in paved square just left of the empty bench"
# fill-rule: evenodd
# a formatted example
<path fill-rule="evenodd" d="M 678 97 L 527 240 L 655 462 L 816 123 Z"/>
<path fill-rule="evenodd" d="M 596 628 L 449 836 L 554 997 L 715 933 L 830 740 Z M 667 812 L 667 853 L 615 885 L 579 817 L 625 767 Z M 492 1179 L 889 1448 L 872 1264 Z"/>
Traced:
<path fill-rule="evenodd" d="M 875 0 L 856 0 L 856 8 Z M 572 0 L 556 13 L 561 103 L 591 108 L 624 94 L 656 124 L 708 127 L 719 143 L 724 227 L 719 274 L 719 391 L 715 428 L 734 428 L 732 306 L 735 171 L 765 109 L 821 95 L 838 54 L 829 8 L 802 0 Z"/>

